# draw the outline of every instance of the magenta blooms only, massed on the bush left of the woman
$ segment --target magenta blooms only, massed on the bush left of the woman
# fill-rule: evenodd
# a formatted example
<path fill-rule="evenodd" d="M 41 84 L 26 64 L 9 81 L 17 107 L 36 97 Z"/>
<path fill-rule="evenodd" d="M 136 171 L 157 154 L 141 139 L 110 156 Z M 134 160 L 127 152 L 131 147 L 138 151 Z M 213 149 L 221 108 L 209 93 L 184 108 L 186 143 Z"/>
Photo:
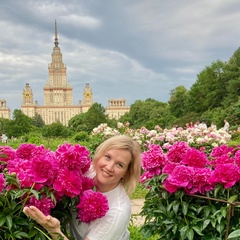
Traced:
<path fill-rule="evenodd" d="M 53 152 L 43 145 L 22 144 L 14 150 L 9 146 L 0 147 L 0 194 L 10 189 L 18 189 L 14 184 L 6 184 L 4 174 L 16 174 L 20 189 L 33 189 L 41 193 L 39 199 L 25 194 L 21 197 L 26 205 L 38 207 L 45 215 L 50 214 L 56 202 L 63 197 L 80 199 L 85 206 L 81 221 L 92 221 L 106 214 L 107 198 L 98 192 L 88 192 L 93 188 L 92 179 L 84 174 L 91 165 L 90 153 L 84 146 L 64 143 Z M 55 201 L 46 194 L 52 192 Z M 102 196 L 101 196 L 102 195 Z M 85 196 L 85 197 L 84 197 Z M 91 208 L 91 211 L 86 209 Z M 79 208 L 82 211 L 82 208 Z M 84 217 L 82 217 L 84 215 Z M 91 220 L 89 220 L 91 219 Z"/>

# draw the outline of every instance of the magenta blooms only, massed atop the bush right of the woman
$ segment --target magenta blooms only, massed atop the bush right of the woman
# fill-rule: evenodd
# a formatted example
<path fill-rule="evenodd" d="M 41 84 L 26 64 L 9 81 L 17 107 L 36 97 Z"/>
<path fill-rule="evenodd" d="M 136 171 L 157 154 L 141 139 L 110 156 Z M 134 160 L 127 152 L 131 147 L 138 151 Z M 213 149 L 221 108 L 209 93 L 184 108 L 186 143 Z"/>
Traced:
<path fill-rule="evenodd" d="M 142 154 L 142 167 L 142 183 L 166 174 L 163 186 L 169 193 L 183 189 L 188 194 L 205 194 L 216 184 L 231 188 L 240 182 L 240 149 L 222 145 L 207 155 L 186 142 L 176 142 L 164 153 L 153 144 Z"/>

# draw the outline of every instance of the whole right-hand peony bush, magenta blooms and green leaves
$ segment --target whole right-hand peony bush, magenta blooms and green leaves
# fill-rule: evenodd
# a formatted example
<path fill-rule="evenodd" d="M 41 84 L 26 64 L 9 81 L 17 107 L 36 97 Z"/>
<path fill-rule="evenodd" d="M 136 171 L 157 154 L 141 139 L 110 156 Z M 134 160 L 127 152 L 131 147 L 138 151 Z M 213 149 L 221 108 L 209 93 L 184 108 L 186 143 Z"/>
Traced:
<path fill-rule="evenodd" d="M 206 153 L 181 141 L 168 149 L 151 144 L 142 167 L 145 238 L 240 239 L 239 146 Z"/>

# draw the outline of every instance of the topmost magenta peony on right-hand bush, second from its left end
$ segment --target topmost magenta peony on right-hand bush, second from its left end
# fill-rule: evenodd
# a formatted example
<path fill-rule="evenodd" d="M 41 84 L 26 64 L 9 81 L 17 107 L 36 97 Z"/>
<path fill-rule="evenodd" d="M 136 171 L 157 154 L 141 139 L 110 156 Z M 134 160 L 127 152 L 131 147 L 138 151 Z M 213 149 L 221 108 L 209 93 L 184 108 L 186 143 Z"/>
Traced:
<path fill-rule="evenodd" d="M 176 142 L 169 148 L 167 159 L 170 162 L 180 163 L 189 149 L 191 149 L 191 147 L 186 142 Z"/>

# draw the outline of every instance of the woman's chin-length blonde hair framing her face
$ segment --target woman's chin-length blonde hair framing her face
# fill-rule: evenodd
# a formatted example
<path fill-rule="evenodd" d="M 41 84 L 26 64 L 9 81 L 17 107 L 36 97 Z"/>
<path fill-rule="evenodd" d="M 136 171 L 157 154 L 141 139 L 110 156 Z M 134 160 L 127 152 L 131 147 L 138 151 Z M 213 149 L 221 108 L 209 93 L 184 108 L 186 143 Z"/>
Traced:
<path fill-rule="evenodd" d="M 141 174 L 141 148 L 132 138 L 126 135 L 117 135 L 111 137 L 100 144 L 93 157 L 92 165 L 95 168 L 96 163 L 109 149 L 124 149 L 131 153 L 132 159 L 128 165 L 127 173 L 122 179 L 122 185 L 128 194 L 135 191 Z"/>

